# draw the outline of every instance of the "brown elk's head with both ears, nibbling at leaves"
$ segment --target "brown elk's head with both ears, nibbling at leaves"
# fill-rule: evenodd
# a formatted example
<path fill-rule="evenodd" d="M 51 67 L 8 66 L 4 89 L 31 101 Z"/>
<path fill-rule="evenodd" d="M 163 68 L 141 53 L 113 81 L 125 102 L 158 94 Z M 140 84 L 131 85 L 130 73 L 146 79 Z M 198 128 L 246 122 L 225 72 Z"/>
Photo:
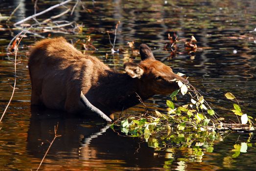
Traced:
<path fill-rule="evenodd" d="M 170 94 L 179 88 L 177 80 L 188 81 L 172 72 L 172 69 L 157 61 L 146 44 L 140 45 L 141 62 L 125 63 L 126 73 L 134 79 L 139 79 L 139 90 L 142 94 Z"/>

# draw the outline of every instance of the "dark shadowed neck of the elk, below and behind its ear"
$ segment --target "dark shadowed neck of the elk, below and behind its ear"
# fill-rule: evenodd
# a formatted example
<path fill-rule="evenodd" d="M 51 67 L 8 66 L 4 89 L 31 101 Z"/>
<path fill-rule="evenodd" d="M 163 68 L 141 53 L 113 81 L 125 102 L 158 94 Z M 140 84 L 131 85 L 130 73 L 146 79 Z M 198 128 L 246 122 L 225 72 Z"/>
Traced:
<path fill-rule="evenodd" d="M 131 78 L 126 73 L 118 73 L 114 70 L 107 72 L 106 75 L 98 78 L 96 86 L 92 86 L 88 93 L 92 93 L 94 97 L 96 95 L 100 106 L 109 108 L 111 112 L 139 104 L 138 95 L 142 100 L 154 95 L 143 89 L 143 83 L 138 78 Z"/>

